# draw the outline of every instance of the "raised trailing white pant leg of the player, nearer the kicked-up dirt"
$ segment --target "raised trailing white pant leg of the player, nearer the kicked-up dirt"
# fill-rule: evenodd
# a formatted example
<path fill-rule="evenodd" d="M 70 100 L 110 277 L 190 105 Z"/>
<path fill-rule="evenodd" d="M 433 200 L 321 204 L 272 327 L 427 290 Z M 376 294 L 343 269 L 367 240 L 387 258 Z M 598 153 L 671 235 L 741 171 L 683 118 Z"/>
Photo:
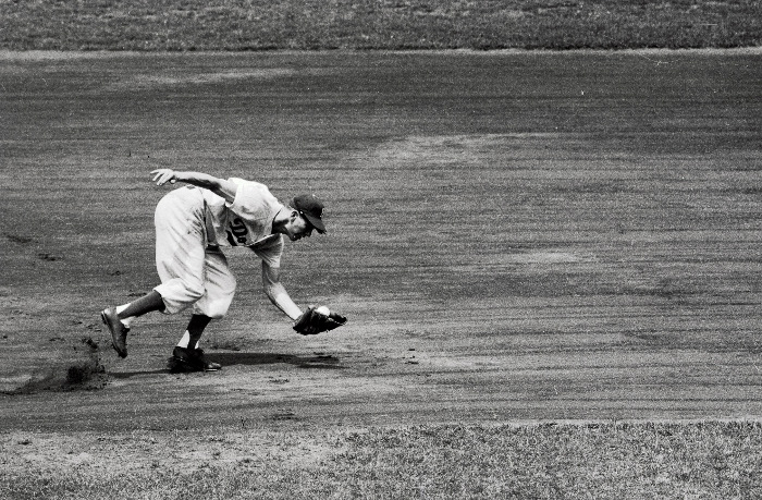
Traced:
<path fill-rule="evenodd" d="M 204 197 L 198 190 L 179 188 L 156 207 L 156 269 L 165 313 L 179 313 L 205 293 Z"/>

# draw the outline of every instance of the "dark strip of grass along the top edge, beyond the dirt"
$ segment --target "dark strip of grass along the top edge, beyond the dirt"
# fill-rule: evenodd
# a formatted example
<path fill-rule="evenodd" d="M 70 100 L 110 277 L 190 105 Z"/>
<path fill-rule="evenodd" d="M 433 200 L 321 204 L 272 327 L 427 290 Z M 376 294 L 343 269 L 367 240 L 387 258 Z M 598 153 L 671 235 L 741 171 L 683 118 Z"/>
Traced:
<path fill-rule="evenodd" d="M 14 50 L 762 45 L 758 0 L 0 0 Z"/>

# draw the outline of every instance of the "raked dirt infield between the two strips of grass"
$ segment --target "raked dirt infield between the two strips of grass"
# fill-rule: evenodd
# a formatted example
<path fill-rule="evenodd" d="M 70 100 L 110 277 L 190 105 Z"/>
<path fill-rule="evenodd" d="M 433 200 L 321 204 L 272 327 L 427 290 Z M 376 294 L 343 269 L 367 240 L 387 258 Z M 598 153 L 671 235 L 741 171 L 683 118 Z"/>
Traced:
<path fill-rule="evenodd" d="M 0 59 L 0 430 L 762 415 L 759 53 Z M 284 283 L 231 256 L 217 374 L 169 374 L 155 168 L 327 199 Z M 99 344 L 95 347 L 95 344 Z"/>

